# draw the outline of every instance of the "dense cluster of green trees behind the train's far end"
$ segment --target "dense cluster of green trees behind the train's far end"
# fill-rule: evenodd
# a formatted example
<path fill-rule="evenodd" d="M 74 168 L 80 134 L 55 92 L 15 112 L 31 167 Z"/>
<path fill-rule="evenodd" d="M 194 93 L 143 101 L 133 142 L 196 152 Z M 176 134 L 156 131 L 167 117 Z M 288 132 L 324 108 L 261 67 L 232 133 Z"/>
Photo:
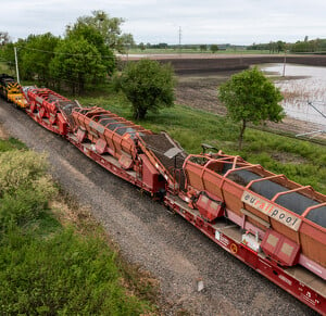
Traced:
<path fill-rule="evenodd" d="M 126 46 L 134 43 L 130 34 L 122 34 L 123 22 L 93 11 L 67 25 L 62 38 L 46 33 L 13 43 L 2 33 L 0 58 L 13 69 L 16 47 L 22 79 L 57 89 L 67 87 L 73 93 L 80 93 L 87 84 L 99 84 L 112 75 L 116 67 L 115 52 L 124 52 Z"/>

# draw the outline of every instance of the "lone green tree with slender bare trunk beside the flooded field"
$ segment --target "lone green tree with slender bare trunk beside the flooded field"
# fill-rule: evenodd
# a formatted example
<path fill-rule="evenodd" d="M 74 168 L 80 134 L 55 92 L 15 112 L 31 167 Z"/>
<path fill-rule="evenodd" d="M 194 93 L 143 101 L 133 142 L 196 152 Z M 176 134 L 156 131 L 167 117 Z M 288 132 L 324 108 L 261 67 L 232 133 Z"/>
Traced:
<path fill-rule="evenodd" d="M 242 149 L 243 134 L 248 123 L 259 125 L 264 121 L 278 123 L 285 116 L 283 96 L 256 67 L 243 71 L 220 86 L 218 98 L 227 108 L 234 122 L 241 122 L 239 149 Z"/>

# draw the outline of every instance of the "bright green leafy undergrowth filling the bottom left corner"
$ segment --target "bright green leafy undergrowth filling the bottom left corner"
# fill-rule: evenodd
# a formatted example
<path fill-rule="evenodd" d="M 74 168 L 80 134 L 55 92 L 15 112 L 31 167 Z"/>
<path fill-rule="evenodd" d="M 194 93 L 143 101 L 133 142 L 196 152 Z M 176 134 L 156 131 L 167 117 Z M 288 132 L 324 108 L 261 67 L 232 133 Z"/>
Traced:
<path fill-rule="evenodd" d="M 116 254 L 99 239 L 65 230 L 47 240 L 9 233 L 0 245 L 0 312 L 34 315 L 139 315 L 126 295 Z"/>

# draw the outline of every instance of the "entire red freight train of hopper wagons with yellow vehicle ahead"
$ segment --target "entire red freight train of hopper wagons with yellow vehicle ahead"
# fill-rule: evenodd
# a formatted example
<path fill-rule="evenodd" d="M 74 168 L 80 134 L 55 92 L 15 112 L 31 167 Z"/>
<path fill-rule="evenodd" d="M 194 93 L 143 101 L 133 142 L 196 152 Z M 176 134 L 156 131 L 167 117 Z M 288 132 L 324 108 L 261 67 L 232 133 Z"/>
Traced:
<path fill-rule="evenodd" d="M 0 77 L 1 94 L 38 124 L 326 314 L 326 195 L 208 144 L 202 154 L 187 154 L 165 132 Z"/>

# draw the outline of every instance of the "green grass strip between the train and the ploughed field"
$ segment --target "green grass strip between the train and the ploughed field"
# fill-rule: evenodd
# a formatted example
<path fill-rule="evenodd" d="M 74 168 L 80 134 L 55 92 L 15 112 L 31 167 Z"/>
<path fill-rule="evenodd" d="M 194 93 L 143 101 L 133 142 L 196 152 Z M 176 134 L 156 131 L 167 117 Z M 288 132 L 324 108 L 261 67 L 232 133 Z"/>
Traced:
<path fill-rule="evenodd" d="M 78 100 L 84 106 L 102 106 L 133 119 L 128 102 L 121 94 Z M 271 172 L 285 174 L 296 182 L 311 185 L 326 194 L 325 146 L 248 128 L 243 150 L 239 151 L 239 128 L 236 124 L 227 117 L 180 105 L 165 109 L 158 115 L 149 114 L 146 121 L 136 123 L 153 131 L 167 131 L 189 153 L 199 153 L 201 143 L 210 143 L 226 153 L 241 155 L 250 163 L 261 164 Z"/>

